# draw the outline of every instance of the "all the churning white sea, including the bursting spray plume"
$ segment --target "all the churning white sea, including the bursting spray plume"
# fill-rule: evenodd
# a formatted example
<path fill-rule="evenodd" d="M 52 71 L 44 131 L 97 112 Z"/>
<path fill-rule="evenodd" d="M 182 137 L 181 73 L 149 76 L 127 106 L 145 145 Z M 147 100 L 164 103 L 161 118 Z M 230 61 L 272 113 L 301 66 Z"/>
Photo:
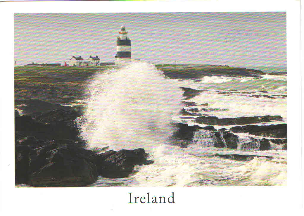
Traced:
<path fill-rule="evenodd" d="M 271 68 L 264 68 L 271 72 Z M 263 71 L 263 69 L 260 68 Z M 199 80 L 166 79 L 154 65 L 137 63 L 122 69 L 98 73 L 88 87 L 85 115 L 77 120 L 87 148 L 144 148 L 154 164 L 136 166 L 127 178 L 98 177 L 90 186 L 281 186 L 287 185 L 287 150 L 271 143 L 259 151 L 263 137 L 236 134 L 237 149 L 213 147 L 209 131 L 196 132 L 187 148 L 168 145 L 171 121 L 196 124 L 193 117 L 181 118 L 184 100 L 179 87 L 205 89 L 187 101 L 208 103 L 199 113 L 224 117 L 280 115 L 287 123 L 285 75 L 251 77 L 211 76 Z M 185 117 L 185 116 L 183 116 Z M 206 126 L 206 125 L 201 125 Z M 233 125 L 234 126 L 234 125 Z M 233 126 L 214 126 L 216 129 Z M 244 148 L 250 137 L 254 145 Z M 245 150 L 244 150 L 245 149 Z M 255 155 L 247 161 L 223 159 L 217 154 Z M 259 156 L 259 157 L 257 157 Z M 268 159 L 266 156 L 271 156 Z"/>

